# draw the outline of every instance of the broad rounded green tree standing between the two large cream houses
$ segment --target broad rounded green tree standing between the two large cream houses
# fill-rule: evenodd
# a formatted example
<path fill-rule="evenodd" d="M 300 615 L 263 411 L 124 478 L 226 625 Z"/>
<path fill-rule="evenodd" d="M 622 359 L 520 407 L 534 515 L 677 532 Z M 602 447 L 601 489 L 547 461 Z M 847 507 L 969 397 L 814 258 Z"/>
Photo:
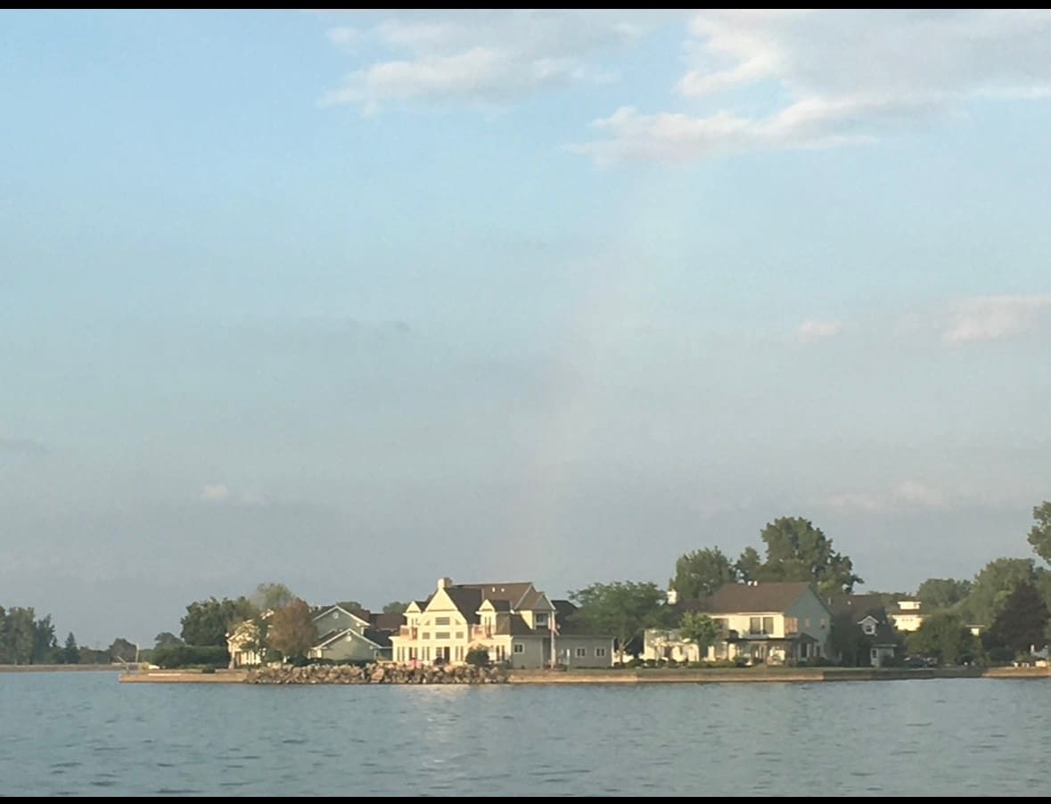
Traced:
<path fill-rule="evenodd" d="M 592 583 L 570 593 L 579 609 L 573 613 L 596 634 L 609 634 L 617 640 L 619 661 L 624 661 L 624 648 L 645 628 L 665 624 L 667 607 L 665 593 L 656 583 L 616 581 Z"/>

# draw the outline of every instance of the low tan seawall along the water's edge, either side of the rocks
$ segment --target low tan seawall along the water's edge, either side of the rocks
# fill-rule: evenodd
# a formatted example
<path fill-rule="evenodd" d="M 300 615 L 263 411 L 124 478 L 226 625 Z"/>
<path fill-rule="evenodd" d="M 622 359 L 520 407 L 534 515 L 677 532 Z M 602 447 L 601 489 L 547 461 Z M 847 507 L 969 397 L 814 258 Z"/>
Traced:
<path fill-rule="evenodd" d="M 61 665 L 60 665 L 61 666 Z M 108 667 L 106 669 L 109 669 Z M 244 684 L 248 671 L 137 671 L 122 672 L 124 683 Z M 511 671 L 509 684 L 718 684 L 718 683 L 818 683 L 848 681 L 923 681 L 946 678 L 1051 679 L 1051 667 L 769 667 L 718 669 L 644 671 Z M 284 684 L 282 684 L 284 685 Z M 322 684 L 329 686 L 331 684 Z M 380 684 L 396 686 L 397 684 Z M 276 686 L 276 685 L 275 685 Z M 300 686 L 300 684 L 295 684 Z M 469 684 L 465 684 L 469 686 Z"/>

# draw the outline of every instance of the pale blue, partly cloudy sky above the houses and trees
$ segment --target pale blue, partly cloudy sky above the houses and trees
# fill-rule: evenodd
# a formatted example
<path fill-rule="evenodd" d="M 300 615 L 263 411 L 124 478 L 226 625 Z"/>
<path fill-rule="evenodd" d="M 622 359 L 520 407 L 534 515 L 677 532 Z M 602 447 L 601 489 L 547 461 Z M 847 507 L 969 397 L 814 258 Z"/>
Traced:
<path fill-rule="evenodd" d="M 0 12 L 0 604 L 1032 557 L 1051 13 Z"/>

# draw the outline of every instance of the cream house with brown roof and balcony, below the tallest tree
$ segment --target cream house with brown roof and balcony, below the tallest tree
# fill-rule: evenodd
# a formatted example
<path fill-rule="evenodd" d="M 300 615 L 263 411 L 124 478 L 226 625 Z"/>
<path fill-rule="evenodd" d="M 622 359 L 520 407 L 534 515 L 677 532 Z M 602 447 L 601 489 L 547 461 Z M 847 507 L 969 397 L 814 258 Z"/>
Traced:
<path fill-rule="evenodd" d="M 727 583 L 715 595 L 676 605 L 707 614 L 720 637 L 700 655 L 675 628 L 647 628 L 643 659 L 712 661 L 742 658 L 780 664 L 828 655 L 831 613 L 808 583 Z"/>

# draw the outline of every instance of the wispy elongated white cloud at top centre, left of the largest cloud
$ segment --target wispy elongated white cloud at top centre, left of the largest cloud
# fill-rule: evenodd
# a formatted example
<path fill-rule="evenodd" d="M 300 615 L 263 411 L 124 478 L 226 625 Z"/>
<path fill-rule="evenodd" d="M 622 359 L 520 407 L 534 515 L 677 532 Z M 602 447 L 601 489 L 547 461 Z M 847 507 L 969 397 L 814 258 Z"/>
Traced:
<path fill-rule="evenodd" d="M 440 21 L 401 15 L 354 37 L 401 57 L 354 70 L 322 103 L 369 111 L 389 101 L 504 103 L 549 87 L 605 82 L 610 71 L 593 61 L 634 42 L 647 20 L 638 12 L 447 12 Z M 330 30 L 329 39 L 346 44 L 345 30 Z"/>

